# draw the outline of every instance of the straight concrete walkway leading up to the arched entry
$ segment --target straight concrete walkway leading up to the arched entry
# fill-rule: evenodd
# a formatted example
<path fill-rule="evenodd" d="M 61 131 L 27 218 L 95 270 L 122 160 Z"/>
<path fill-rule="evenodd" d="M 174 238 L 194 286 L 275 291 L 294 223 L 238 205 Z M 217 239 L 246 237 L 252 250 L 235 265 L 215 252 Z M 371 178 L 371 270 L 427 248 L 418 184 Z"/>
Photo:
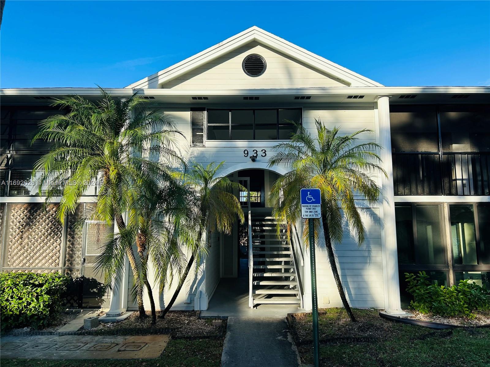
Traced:
<path fill-rule="evenodd" d="M 229 317 L 221 367 L 298 367 L 285 318 Z"/>

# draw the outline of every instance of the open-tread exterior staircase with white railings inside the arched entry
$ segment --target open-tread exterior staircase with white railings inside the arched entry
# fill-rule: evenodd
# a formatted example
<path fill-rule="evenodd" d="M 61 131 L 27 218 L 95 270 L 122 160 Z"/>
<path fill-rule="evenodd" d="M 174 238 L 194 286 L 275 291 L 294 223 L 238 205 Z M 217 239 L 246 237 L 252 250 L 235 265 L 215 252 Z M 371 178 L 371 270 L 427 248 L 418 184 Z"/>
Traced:
<path fill-rule="evenodd" d="M 251 213 L 250 307 L 259 304 L 301 305 L 294 254 L 284 234 L 277 235 L 276 221 L 267 212 Z"/>

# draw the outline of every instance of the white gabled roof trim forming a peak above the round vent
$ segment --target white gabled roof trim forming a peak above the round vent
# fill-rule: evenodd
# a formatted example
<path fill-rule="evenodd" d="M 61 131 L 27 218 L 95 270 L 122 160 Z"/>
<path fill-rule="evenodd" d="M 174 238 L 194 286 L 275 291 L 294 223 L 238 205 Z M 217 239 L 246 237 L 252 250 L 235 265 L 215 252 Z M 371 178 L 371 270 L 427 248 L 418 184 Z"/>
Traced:
<path fill-rule="evenodd" d="M 285 55 L 288 55 L 294 59 L 301 61 L 302 63 L 325 73 L 331 74 L 339 79 L 344 80 L 351 87 L 382 87 L 371 79 L 366 78 L 352 70 L 345 69 L 342 66 L 335 64 L 321 56 L 305 50 L 299 46 L 292 44 L 280 37 L 266 32 L 265 30 L 253 26 L 237 35 L 224 40 L 218 45 L 209 47 L 204 51 L 197 53 L 177 64 L 172 65 L 167 69 L 156 72 L 144 79 L 141 79 L 133 84 L 128 85 L 125 88 L 130 89 L 146 89 L 146 88 L 158 88 L 158 85 L 172 80 L 192 69 L 196 69 L 211 60 L 214 60 L 221 55 L 224 55 L 234 49 L 244 46 L 252 41 L 259 42 L 263 45 L 269 46 Z"/>

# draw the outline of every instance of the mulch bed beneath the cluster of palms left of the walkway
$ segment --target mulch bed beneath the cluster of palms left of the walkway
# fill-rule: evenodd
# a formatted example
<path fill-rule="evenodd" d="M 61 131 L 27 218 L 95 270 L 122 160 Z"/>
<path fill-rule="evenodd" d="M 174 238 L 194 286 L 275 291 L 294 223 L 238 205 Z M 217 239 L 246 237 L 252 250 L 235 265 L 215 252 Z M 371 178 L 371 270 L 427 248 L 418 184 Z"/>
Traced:
<path fill-rule="evenodd" d="M 151 324 L 151 313 L 147 311 L 147 318 L 140 319 L 138 312 L 133 312 L 126 320 L 114 323 L 101 323 L 93 331 L 108 331 L 127 328 L 176 328 L 172 333 L 173 337 L 199 337 L 221 335 L 221 327 L 213 326 L 212 319 L 196 320 L 195 311 L 170 311 L 165 319 L 158 318 L 156 324 Z M 225 322 L 225 321 L 223 321 Z"/>

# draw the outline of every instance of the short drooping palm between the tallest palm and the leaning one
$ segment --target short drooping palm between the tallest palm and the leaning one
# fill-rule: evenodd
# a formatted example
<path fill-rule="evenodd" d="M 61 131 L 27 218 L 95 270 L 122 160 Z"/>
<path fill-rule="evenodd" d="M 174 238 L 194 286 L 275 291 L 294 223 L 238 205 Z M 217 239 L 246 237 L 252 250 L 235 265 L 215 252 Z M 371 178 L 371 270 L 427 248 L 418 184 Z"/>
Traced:
<path fill-rule="evenodd" d="M 187 223 L 194 223 L 189 217 L 189 213 L 193 213 L 189 211 L 192 194 L 191 190 L 176 181 L 141 188 L 136 201 L 128 208 L 126 228 L 106 244 L 104 252 L 97 259 L 96 269 L 104 271 L 106 283 L 111 284 L 114 279 L 123 277 L 124 249 L 136 244 L 136 264 L 140 277 L 135 281 L 134 288 L 146 287 L 152 323 L 156 323 L 156 308 L 148 281 L 148 261 L 154 264 L 156 279 L 161 285 L 167 282 L 169 275 L 172 278 L 173 274 L 182 273 L 186 262 L 175 236 L 175 223 L 181 223 L 178 229 L 181 238 L 196 237 L 195 227 L 184 227 Z M 162 288 L 160 286 L 160 292 Z"/>

